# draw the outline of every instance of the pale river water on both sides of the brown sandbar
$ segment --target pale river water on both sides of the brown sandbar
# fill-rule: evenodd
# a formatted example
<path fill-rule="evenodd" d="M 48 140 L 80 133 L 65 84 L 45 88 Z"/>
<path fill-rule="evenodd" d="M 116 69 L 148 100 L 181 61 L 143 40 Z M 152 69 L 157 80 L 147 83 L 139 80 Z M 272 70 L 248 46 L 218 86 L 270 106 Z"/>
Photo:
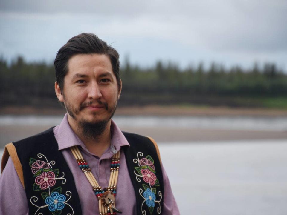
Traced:
<path fill-rule="evenodd" d="M 61 118 L 1 116 L 0 128 L 22 128 L 25 132 L 18 133 L 28 135 L 25 127 L 42 129 L 57 125 Z M 285 118 L 138 116 L 115 117 L 114 120 L 120 128 L 139 127 L 146 131 L 164 127 L 168 131 L 186 129 L 187 133 L 192 130 L 262 132 L 256 133 L 255 139 L 242 136 L 241 139 L 196 141 L 186 138 L 184 141 L 158 141 L 158 145 L 181 214 L 287 214 Z M 283 135 L 274 139 L 258 136 L 268 132 L 275 137 L 279 133 Z M 7 138 L 13 139 L 13 136 Z"/>

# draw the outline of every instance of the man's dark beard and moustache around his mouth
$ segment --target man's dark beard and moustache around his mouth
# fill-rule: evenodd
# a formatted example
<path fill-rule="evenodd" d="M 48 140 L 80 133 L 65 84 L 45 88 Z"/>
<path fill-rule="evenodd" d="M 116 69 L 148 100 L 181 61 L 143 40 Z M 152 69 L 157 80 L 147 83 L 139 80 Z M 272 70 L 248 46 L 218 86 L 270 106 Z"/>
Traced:
<path fill-rule="evenodd" d="M 104 130 L 107 127 L 108 122 L 110 119 L 114 116 L 115 111 L 117 109 L 117 101 L 115 101 L 115 105 L 112 107 L 109 107 L 109 105 L 106 102 L 102 102 L 100 100 L 97 100 L 97 102 L 84 102 L 80 104 L 78 108 L 73 108 L 72 105 L 67 101 L 65 95 L 63 94 L 65 108 L 68 112 L 68 114 L 78 122 L 78 130 L 80 133 L 83 134 L 87 139 L 94 139 L 97 140 L 98 137 L 104 132 Z M 106 111 L 109 113 L 109 116 L 106 119 L 97 120 L 98 113 L 93 113 L 94 117 L 91 121 L 85 120 L 85 119 L 77 119 L 76 115 L 80 113 L 86 106 L 93 105 L 94 103 L 104 105 Z"/>

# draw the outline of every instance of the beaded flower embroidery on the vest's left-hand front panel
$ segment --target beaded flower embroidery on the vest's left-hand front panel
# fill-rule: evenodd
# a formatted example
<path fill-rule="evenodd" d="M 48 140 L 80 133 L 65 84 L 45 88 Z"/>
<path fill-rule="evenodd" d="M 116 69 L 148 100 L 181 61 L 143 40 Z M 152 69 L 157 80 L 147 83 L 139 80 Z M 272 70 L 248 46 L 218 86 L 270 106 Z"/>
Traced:
<path fill-rule="evenodd" d="M 38 209 L 36 210 L 35 214 L 38 213 L 39 210 L 42 208 L 48 207 L 49 211 L 53 215 L 59 215 L 62 213 L 62 209 L 65 205 L 68 205 L 71 208 L 72 214 L 68 213 L 67 215 L 73 215 L 74 210 L 67 202 L 70 200 L 72 193 L 70 191 L 66 191 L 66 195 L 62 194 L 62 187 L 56 187 L 53 190 L 52 188 L 56 185 L 56 180 L 61 180 L 62 184 L 66 183 L 66 179 L 64 178 L 65 173 L 63 173 L 62 177 L 58 177 L 59 170 L 53 169 L 52 165 L 55 165 L 55 161 L 48 162 L 48 159 L 43 154 L 37 154 L 38 158 L 45 158 L 46 161 L 36 160 L 34 158 L 30 158 L 29 165 L 31 167 L 33 176 L 35 177 L 35 183 L 33 185 L 33 191 L 48 191 L 48 192 L 41 192 L 42 198 L 45 200 L 45 205 L 38 206 L 35 202 L 38 201 L 37 196 L 32 196 L 30 198 L 30 202 L 32 205 L 36 206 Z M 67 197 L 69 197 L 67 199 Z M 39 212 L 37 215 L 43 215 Z"/>

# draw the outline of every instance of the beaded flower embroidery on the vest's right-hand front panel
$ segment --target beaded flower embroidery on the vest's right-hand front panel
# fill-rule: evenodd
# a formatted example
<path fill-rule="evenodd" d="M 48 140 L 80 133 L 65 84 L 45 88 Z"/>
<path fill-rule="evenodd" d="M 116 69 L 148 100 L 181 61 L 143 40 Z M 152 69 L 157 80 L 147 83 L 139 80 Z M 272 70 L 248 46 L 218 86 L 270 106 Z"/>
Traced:
<path fill-rule="evenodd" d="M 146 215 L 146 210 L 144 209 L 146 205 L 149 213 L 152 214 L 154 208 L 155 208 L 155 203 L 158 203 L 157 207 L 157 213 L 161 213 L 161 191 L 158 191 L 158 196 L 160 197 L 159 200 L 156 200 L 156 187 L 159 187 L 159 181 L 156 177 L 156 172 L 155 172 L 155 165 L 154 165 L 154 160 L 152 159 L 151 156 L 146 156 L 143 158 L 144 154 L 142 152 L 137 153 L 137 159 L 133 159 L 134 163 L 138 163 L 138 166 L 135 167 L 135 175 L 136 175 L 136 180 L 138 182 L 141 182 L 141 178 L 143 179 L 143 188 L 139 189 L 139 193 L 141 197 L 143 197 L 144 201 L 141 204 L 141 212 L 143 215 Z M 143 195 L 142 195 L 143 194 Z"/>

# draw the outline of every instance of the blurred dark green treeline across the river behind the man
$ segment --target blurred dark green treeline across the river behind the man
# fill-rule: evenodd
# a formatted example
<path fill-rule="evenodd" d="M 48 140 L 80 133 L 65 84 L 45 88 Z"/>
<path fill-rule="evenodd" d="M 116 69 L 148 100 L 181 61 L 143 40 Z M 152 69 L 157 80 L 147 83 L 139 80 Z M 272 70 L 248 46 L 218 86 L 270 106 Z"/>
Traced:
<path fill-rule="evenodd" d="M 119 105 L 227 105 L 287 107 L 287 75 L 275 64 L 257 64 L 249 70 L 225 69 L 215 63 L 207 69 L 180 69 L 157 62 L 154 67 L 121 65 L 123 90 Z M 0 59 L 0 106 L 59 107 L 54 92 L 53 64 L 28 63 L 18 57 L 8 64 Z"/>

